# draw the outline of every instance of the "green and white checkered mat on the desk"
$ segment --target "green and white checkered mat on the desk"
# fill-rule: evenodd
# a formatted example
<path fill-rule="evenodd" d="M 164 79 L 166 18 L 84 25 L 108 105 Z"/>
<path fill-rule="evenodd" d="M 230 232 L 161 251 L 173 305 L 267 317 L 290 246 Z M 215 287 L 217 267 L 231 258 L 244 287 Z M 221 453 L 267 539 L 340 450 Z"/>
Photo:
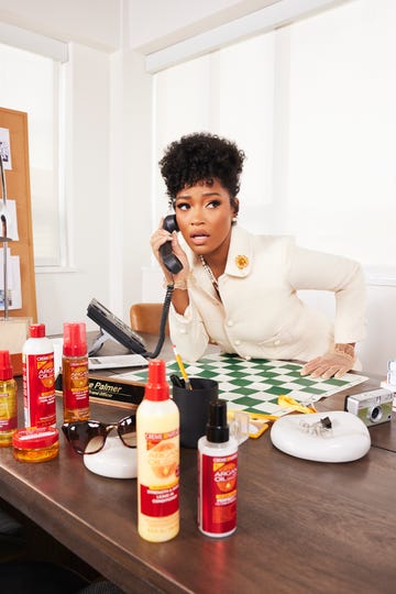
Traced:
<path fill-rule="evenodd" d="M 229 410 L 261 415 L 283 415 L 287 410 L 277 404 L 278 396 L 289 396 L 311 404 L 367 380 L 363 375 L 345 374 L 341 380 L 312 380 L 301 376 L 302 365 L 287 361 L 252 359 L 246 361 L 230 354 L 208 355 L 196 363 L 185 363 L 189 377 L 207 377 L 219 382 L 219 397 L 229 403 Z M 166 364 L 166 375 L 180 375 L 176 361 Z M 117 377 L 145 383 L 147 370 L 117 374 Z"/>

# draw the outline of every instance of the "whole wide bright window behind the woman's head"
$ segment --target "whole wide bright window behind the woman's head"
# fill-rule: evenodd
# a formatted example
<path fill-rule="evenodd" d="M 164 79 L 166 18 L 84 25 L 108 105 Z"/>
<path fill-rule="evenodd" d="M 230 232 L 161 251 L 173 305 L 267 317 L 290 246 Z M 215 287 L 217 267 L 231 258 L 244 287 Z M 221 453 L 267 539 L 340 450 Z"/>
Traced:
<path fill-rule="evenodd" d="M 241 224 L 394 268 L 395 19 L 392 0 L 346 2 L 158 73 L 156 161 L 184 133 L 231 138 Z"/>

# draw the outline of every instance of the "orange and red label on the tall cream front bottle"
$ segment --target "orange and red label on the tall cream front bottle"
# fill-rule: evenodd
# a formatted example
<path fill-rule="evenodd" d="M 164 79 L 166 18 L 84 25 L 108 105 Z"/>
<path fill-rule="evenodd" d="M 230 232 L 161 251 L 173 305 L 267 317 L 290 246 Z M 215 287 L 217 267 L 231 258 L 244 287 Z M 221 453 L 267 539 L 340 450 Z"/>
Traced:
<path fill-rule="evenodd" d="M 142 514 L 166 517 L 179 508 L 178 429 L 165 433 L 144 435 L 146 483 L 140 485 Z"/>

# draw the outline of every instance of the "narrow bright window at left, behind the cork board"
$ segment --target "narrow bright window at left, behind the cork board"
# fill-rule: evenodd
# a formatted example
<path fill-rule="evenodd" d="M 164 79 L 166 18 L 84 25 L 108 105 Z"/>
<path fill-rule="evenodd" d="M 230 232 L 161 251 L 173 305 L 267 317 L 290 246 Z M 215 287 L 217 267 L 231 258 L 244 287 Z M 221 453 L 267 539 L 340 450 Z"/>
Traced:
<path fill-rule="evenodd" d="M 0 61 L 1 107 L 28 113 L 35 265 L 61 265 L 58 103 L 62 66 L 50 57 L 1 44 Z"/>

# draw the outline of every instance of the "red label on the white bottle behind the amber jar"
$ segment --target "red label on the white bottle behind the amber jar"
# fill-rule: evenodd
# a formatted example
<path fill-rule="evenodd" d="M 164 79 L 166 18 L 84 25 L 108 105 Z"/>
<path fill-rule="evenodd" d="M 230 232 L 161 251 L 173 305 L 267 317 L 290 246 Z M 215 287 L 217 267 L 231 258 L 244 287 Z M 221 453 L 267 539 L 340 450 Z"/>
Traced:
<path fill-rule="evenodd" d="M 25 427 L 55 425 L 54 353 L 23 355 Z"/>

